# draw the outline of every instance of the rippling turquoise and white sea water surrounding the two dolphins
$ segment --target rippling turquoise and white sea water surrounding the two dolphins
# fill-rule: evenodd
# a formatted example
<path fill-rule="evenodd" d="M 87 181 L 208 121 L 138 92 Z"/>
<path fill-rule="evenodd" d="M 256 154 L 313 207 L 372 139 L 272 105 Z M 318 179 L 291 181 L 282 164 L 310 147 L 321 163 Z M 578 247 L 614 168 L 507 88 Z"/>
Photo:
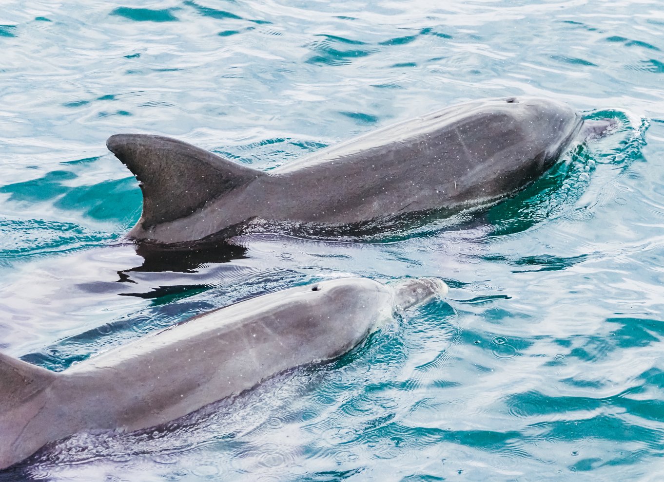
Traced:
<path fill-rule="evenodd" d="M 664 5 L 431 5 L 3 5 L 4 353 L 61 370 L 212 307 L 344 274 L 440 276 L 451 289 L 334 363 L 177 426 L 77 436 L 1 480 L 661 478 Z M 620 129 L 512 200 L 384 239 L 263 233 L 181 257 L 121 242 L 141 195 L 106 151 L 113 133 L 171 135 L 268 169 L 445 105 L 521 94 Z"/>

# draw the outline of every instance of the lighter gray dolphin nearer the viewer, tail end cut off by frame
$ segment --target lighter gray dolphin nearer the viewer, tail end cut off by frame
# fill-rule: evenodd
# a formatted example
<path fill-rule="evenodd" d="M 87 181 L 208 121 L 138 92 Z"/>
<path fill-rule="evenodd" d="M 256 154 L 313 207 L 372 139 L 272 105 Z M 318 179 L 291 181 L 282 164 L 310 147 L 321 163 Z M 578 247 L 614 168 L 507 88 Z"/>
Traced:
<path fill-rule="evenodd" d="M 338 278 L 195 316 L 55 373 L 0 353 L 0 469 L 90 430 L 175 420 L 292 367 L 333 359 L 394 310 L 444 296 L 436 278 Z"/>

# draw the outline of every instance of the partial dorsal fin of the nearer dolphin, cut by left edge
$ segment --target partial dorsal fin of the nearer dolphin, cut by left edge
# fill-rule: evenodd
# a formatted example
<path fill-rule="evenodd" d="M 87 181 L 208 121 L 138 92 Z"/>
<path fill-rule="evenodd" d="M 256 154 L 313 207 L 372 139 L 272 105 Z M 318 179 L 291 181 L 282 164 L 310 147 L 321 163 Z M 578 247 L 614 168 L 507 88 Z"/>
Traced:
<path fill-rule="evenodd" d="M 58 374 L 0 353 L 0 414 L 30 400 Z"/>

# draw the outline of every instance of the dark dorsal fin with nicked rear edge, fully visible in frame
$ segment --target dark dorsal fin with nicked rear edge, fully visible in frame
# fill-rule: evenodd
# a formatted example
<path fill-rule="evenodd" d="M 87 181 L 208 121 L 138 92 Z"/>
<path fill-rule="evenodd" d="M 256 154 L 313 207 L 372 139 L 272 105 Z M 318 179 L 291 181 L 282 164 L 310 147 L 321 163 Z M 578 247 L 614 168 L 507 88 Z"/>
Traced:
<path fill-rule="evenodd" d="M 264 174 L 170 137 L 116 134 L 106 146 L 140 182 L 144 227 L 186 217 Z"/>

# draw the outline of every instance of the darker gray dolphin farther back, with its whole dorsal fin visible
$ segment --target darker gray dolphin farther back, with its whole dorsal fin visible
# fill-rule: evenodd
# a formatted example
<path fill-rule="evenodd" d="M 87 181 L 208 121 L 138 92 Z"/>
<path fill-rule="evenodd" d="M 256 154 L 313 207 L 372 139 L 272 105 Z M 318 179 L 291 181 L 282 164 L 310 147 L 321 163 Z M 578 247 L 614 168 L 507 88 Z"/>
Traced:
<path fill-rule="evenodd" d="M 349 232 L 426 211 L 454 213 L 524 188 L 582 133 L 572 107 L 533 97 L 462 103 L 262 171 L 156 135 L 106 145 L 139 180 L 143 213 L 128 237 L 187 243 L 252 220 Z"/>

